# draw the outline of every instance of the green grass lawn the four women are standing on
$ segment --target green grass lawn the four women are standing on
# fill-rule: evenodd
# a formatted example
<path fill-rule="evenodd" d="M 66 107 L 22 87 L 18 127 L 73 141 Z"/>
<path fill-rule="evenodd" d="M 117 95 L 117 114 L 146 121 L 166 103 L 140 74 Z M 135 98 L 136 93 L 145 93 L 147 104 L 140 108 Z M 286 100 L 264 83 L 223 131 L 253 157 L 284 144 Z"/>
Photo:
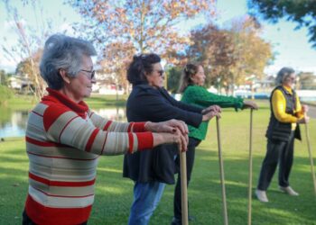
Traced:
<path fill-rule="evenodd" d="M 98 98 L 92 98 L 92 101 L 99 102 Z M 254 186 L 265 156 L 265 130 L 269 117 L 268 104 L 259 104 L 260 110 L 254 112 Z M 220 120 L 230 224 L 246 224 L 247 221 L 249 115 L 249 111 L 225 110 Z M 311 120 L 309 128 L 311 147 L 315 149 L 316 120 Z M 280 193 L 274 175 L 267 193 L 270 202 L 262 203 L 253 199 L 253 224 L 316 224 L 316 197 L 313 194 L 303 126 L 302 137 L 302 143 L 295 143 L 291 175 L 291 184 L 300 196 L 291 197 Z M 223 224 L 214 120 L 209 124 L 207 139 L 197 148 L 196 154 L 189 201 L 191 215 L 197 220 L 191 224 Z M 313 155 L 316 157 L 315 151 Z M 88 224 L 127 223 L 129 207 L 133 200 L 133 182 L 122 178 L 122 161 L 123 157 L 100 158 L 96 200 Z M 23 139 L 0 142 L 0 168 L 0 224 L 21 224 L 28 188 L 28 159 Z M 170 224 L 173 188 L 173 185 L 167 185 L 151 224 Z"/>

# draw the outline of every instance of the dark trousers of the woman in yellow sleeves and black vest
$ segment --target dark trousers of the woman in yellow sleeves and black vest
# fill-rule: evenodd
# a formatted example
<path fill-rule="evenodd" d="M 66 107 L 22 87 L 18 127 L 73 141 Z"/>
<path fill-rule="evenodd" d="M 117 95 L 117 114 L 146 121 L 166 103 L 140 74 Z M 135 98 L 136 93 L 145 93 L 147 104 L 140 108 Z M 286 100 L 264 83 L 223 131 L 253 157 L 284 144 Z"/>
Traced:
<path fill-rule="evenodd" d="M 293 165 L 294 132 L 291 132 L 288 141 L 268 139 L 266 148 L 257 189 L 261 191 L 267 190 L 278 164 L 279 185 L 283 187 L 289 186 L 289 176 Z"/>

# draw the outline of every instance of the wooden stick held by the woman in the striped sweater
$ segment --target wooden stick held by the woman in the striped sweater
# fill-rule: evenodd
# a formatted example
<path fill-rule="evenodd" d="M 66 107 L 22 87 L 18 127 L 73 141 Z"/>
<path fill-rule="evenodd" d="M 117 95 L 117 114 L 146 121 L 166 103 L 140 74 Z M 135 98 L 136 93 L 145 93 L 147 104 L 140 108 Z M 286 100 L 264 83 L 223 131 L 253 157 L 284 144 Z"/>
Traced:
<path fill-rule="evenodd" d="M 188 225 L 187 153 L 180 149 L 182 225 Z"/>

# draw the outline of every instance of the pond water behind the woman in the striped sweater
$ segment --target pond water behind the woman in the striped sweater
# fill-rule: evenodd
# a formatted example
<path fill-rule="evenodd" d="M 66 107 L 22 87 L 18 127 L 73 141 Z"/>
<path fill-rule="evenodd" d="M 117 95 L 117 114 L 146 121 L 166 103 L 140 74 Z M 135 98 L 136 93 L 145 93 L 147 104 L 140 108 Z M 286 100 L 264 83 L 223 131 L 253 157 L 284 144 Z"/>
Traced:
<path fill-rule="evenodd" d="M 93 110 L 98 115 L 112 121 L 126 121 L 125 108 L 104 108 Z M 0 138 L 23 137 L 29 111 L 1 109 L 0 113 Z"/>

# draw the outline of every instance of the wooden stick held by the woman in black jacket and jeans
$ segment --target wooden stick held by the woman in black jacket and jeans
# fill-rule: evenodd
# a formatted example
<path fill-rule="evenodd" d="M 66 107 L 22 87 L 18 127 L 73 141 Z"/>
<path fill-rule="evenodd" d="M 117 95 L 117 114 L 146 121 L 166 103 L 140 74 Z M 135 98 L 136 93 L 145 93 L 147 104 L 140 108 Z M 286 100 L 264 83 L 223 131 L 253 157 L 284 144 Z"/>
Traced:
<path fill-rule="evenodd" d="M 221 155 L 220 130 L 219 130 L 219 118 L 218 117 L 216 117 L 216 125 L 217 125 L 217 129 L 218 129 L 218 160 L 219 160 L 221 193 L 222 193 L 222 200 L 223 200 L 223 216 L 224 216 L 224 224 L 228 225 L 228 207 L 226 204 L 224 165 L 223 165 L 223 158 Z"/>

